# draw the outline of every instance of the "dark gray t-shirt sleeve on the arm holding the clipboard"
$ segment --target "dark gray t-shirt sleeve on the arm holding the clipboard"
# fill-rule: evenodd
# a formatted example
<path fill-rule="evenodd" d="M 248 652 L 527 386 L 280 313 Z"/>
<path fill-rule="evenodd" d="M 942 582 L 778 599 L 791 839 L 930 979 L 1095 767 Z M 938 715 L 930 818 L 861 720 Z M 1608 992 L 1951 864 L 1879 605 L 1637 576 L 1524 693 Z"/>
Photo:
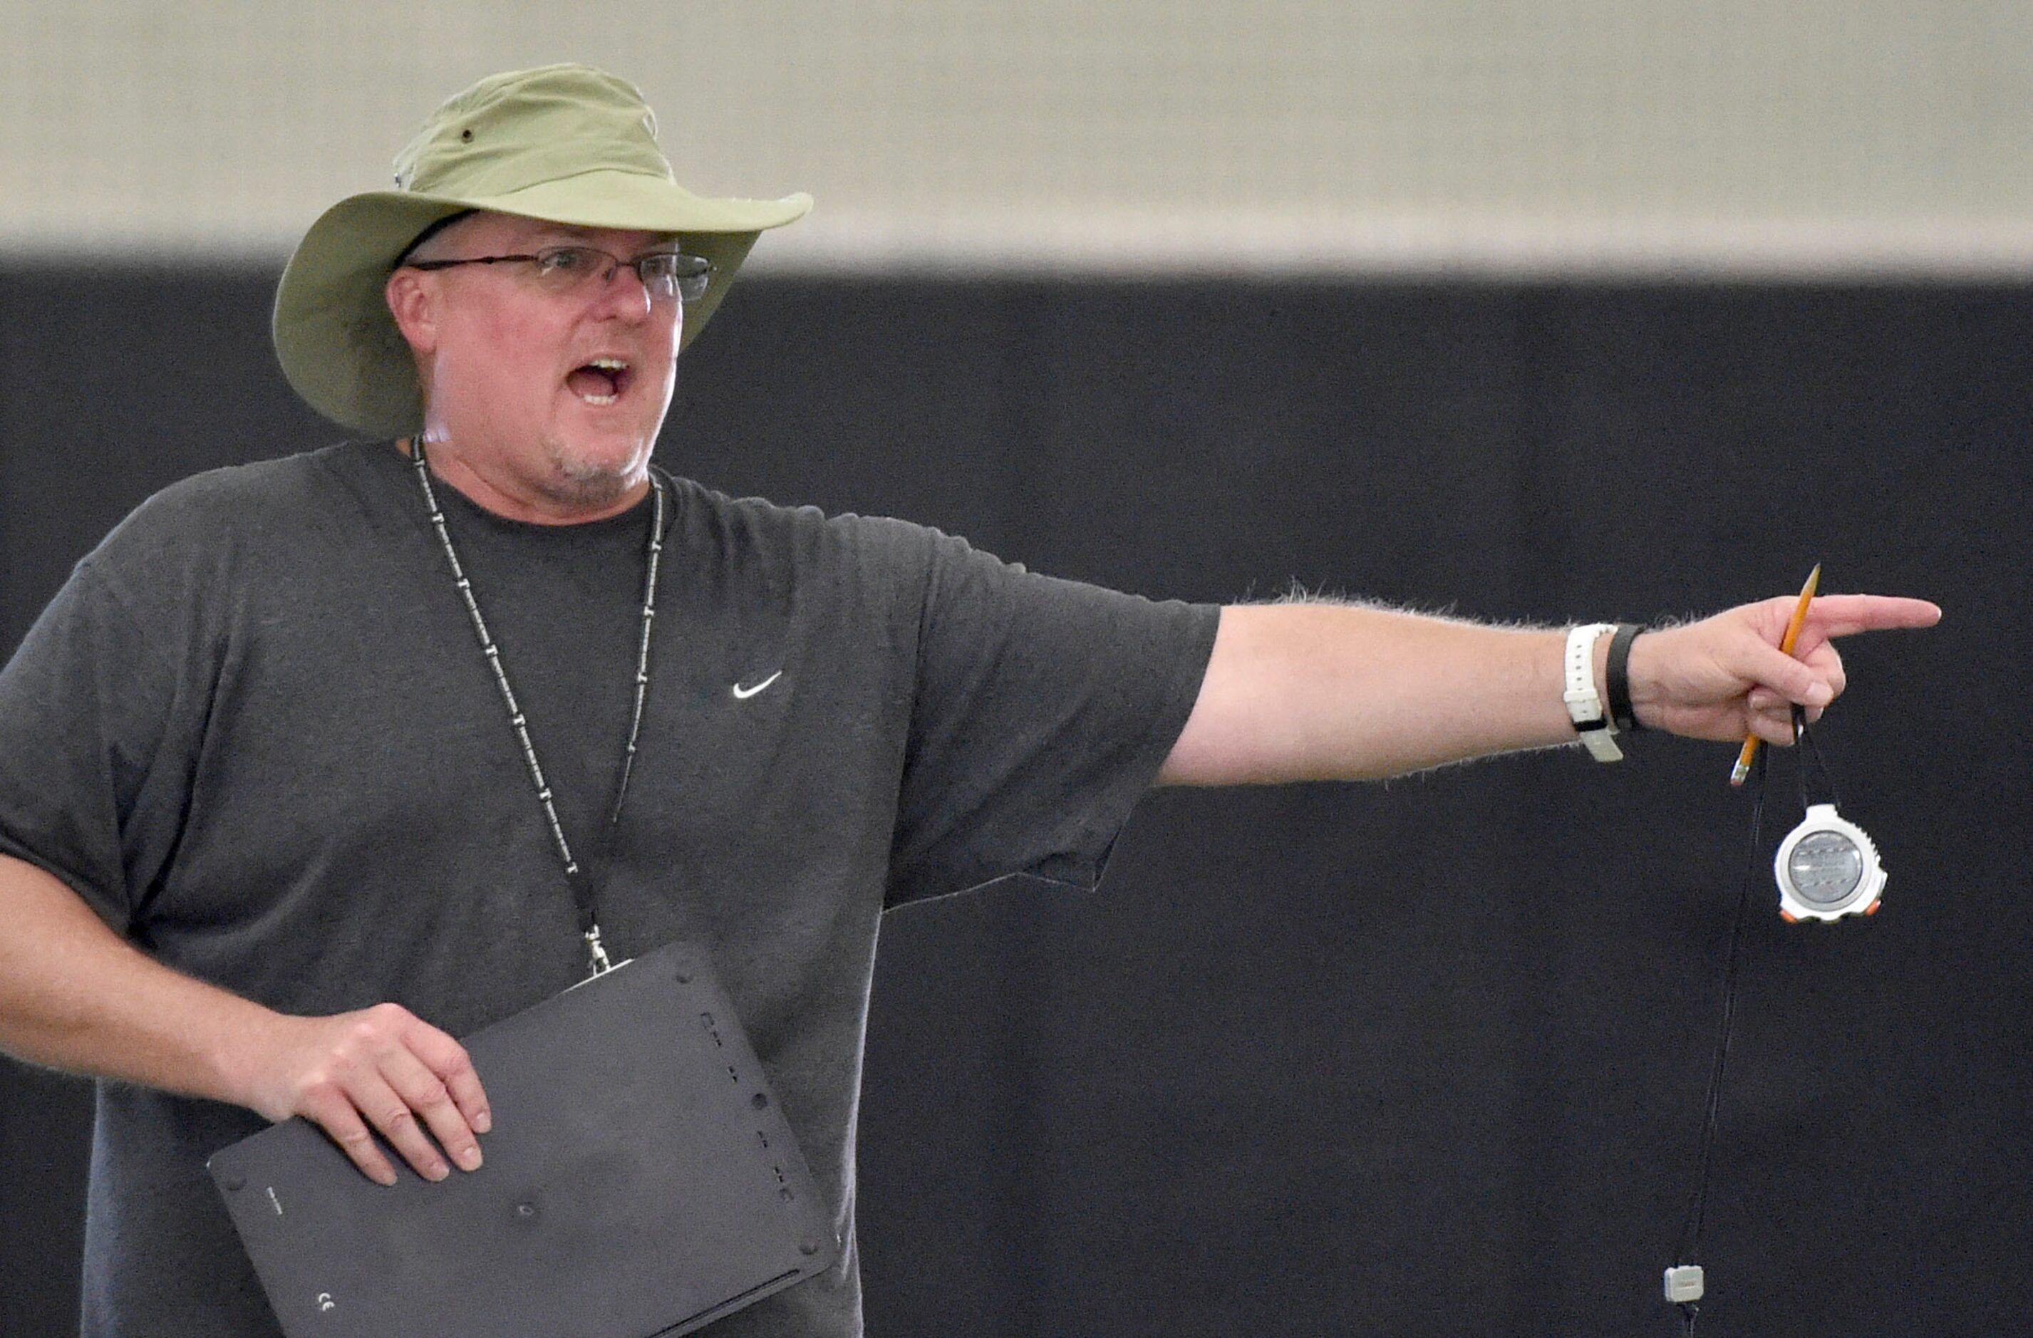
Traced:
<path fill-rule="evenodd" d="M 165 754 L 187 716 L 132 610 L 81 563 L 0 669 L 0 854 L 37 864 L 128 931 L 167 866 L 187 777 Z"/>

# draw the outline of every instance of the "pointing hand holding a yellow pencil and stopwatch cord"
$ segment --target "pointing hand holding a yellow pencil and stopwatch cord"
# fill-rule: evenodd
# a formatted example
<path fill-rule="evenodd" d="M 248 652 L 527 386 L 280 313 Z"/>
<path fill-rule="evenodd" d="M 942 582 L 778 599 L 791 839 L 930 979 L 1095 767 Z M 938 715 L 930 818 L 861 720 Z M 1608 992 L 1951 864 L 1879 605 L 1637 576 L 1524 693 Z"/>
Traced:
<path fill-rule="evenodd" d="M 1630 706 L 1639 724 L 1689 738 L 1757 734 L 1789 744 L 1795 704 L 1811 720 L 1842 695 L 1836 636 L 1942 620 L 1942 610 L 1925 600 L 1832 594 L 1807 606 L 1793 655 L 1783 655 L 1779 643 L 1793 606 L 1793 596 L 1742 604 L 1630 643 Z M 1598 659 L 1606 645 L 1598 643 Z"/>

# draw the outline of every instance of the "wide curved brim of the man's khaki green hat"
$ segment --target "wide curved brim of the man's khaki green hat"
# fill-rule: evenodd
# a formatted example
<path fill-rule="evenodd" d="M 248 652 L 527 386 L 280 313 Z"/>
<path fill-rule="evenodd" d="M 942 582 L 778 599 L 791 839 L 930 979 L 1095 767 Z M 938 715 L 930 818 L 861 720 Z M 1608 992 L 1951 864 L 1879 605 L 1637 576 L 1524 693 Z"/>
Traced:
<path fill-rule="evenodd" d="M 720 307 L 756 236 L 803 218 L 811 195 L 710 199 L 663 177 L 602 169 L 508 195 L 368 191 L 342 199 L 311 224 L 289 258 L 272 321 L 283 376 L 327 419 L 376 437 L 423 427 L 417 364 L 384 289 L 419 232 L 466 209 L 677 234 L 679 246 L 714 262 L 705 293 L 685 303 L 683 348 Z"/>

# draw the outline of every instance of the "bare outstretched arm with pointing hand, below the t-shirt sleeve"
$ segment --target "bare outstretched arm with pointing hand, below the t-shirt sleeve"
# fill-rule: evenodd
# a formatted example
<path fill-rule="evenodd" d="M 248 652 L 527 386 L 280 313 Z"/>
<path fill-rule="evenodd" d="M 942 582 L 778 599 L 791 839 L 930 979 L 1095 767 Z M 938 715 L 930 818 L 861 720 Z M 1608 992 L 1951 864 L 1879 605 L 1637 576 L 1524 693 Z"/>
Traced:
<path fill-rule="evenodd" d="M 1925 600 L 1824 596 L 1787 657 L 1779 641 L 1793 604 L 1781 596 L 1639 636 L 1630 647 L 1639 722 L 1689 738 L 1757 732 L 1789 742 L 1795 702 L 1820 714 L 1842 693 L 1832 638 L 1942 616 Z M 1159 783 L 1354 781 L 1574 742 L 1563 647 L 1557 630 L 1384 608 L 1224 608 L 1199 697 Z M 1596 645 L 1598 693 L 1606 657 L 1608 638 Z"/>

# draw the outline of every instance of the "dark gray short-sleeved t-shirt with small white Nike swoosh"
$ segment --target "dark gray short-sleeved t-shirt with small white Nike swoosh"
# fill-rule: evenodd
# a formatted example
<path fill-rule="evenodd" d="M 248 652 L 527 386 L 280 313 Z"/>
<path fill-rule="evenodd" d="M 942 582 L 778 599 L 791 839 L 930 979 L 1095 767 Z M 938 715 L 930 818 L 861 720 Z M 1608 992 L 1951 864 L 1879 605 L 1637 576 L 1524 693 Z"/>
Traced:
<path fill-rule="evenodd" d="M 588 846 L 628 732 L 649 504 L 537 527 L 437 492 Z M 685 480 L 671 502 L 600 921 L 616 960 L 712 948 L 848 1242 L 831 1275 L 710 1332 L 858 1334 L 878 915 L 1012 872 L 1092 887 L 1191 710 L 1218 612 L 899 521 Z M 77 565 L 0 673 L 0 852 L 285 1013 L 394 1000 L 461 1035 L 583 974 L 520 746 L 388 443 L 187 480 Z M 100 1084 L 85 1334 L 276 1332 L 203 1173 L 258 1127 Z"/>

